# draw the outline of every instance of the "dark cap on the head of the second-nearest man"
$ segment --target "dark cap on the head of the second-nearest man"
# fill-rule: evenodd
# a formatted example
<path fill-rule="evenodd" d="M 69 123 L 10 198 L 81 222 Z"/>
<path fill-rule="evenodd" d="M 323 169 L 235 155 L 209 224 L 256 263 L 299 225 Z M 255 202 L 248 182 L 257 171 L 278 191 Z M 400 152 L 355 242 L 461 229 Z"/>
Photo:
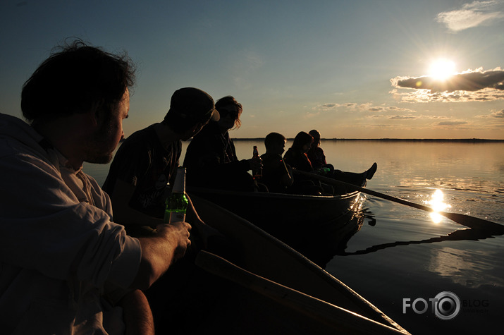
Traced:
<path fill-rule="evenodd" d="M 204 120 L 208 116 L 211 121 L 219 121 L 221 118 L 215 109 L 214 99 L 207 92 L 195 87 L 184 87 L 173 92 L 170 110 L 195 120 Z"/>

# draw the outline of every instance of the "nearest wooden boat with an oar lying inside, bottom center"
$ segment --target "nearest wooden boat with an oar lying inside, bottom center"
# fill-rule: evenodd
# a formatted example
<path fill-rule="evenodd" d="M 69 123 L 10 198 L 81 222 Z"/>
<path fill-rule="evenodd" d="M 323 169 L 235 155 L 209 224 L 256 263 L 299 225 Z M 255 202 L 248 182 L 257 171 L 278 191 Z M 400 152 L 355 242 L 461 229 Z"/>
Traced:
<path fill-rule="evenodd" d="M 199 217 L 234 245 L 234 264 L 204 251 L 196 259 L 199 267 L 226 282 L 216 299 L 223 303 L 207 309 L 207 319 L 200 321 L 206 333 L 409 334 L 351 288 L 262 229 L 213 202 L 197 196 L 192 202 Z M 225 291 L 228 294 L 222 294 Z"/>

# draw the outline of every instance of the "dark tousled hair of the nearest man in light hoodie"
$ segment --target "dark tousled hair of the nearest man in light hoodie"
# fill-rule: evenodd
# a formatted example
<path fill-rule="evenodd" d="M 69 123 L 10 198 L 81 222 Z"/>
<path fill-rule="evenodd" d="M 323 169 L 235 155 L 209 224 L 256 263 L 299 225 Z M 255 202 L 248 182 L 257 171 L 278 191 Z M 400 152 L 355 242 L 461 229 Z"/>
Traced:
<path fill-rule="evenodd" d="M 21 110 L 30 123 L 90 109 L 114 111 L 134 82 L 126 54 L 109 54 L 78 39 L 55 49 L 26 81 Z"/>

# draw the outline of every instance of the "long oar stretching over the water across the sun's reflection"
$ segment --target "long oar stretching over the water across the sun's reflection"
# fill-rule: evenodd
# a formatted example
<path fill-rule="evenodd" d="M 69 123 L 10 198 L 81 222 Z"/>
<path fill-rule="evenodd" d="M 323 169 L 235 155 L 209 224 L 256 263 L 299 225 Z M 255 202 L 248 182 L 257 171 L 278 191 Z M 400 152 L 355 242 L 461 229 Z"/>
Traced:
<path fill-rule="evenodd" d="M 386 195 L 383 193 L 376 192 L 374 190 L 369 190 L 368 188 L 362 188 L 357 185 L 345 183 L 344 181 L 338 181 L 334 178 L 320 176 L 319 174 L 316 174 L 316 173 L 305 172 L 305 171 L 300 171 L 300 170 L 294 170 L 294 172 L 297 174 L 300 174 L 302 176 L 307 176 L 310 178 L 319 179 L 319 181 L 323 181 L 324 183 L 328 183 L 328 184 L 332 184 L 332 185 L 343 185 L 347 188 L 351 188 L 352 190 L 358 190 L 362 193 L 374 195 L 375 197 L 381 197 L 382 199 L 391 200 L 393 202 L 398 202 L 399 204 L 402 204 L 402 205 L 414 207 L 417 209 L 422 209 L 427 212 L 436 212 L 438 214 L 443 215 L 443 217 L 447 217 L 448 219 L 457 222 L 457 224 L 462 224 L 463 226 L 467 226 L 469 228 L 485 229 L 485 230 L 495 231 L 495 233 L 504 233 L 504 226 L 501 224 L 496 224 L 495 222 L 492 222 L 492 221 L 488 221 L 485 219 L 479 219 L 477 217 L 471 217 L 471 216 L 465 215 L 465 214 L 439 212 L 439 211 L 436 211 L 435 209 L 432 209 L 431 207 L 427 207 L 427 206 L 420 205 L 420 204 L 417 204 L 414 202 L 410 202 L 410 201 L 407 201 L 404 199 L 400 199 L 398 197 L 392 197 L 391 195 Z"/>

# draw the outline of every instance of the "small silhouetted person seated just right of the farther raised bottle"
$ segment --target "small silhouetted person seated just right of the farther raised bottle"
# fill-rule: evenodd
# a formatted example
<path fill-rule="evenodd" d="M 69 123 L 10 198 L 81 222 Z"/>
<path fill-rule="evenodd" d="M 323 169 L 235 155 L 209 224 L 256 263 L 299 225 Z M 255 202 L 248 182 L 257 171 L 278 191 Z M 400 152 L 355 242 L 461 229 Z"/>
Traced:
<path fill-rule="evenodd" d="M 261 183 L 266 185 L 269 192 L 286 193 L 294 182 L 292 169 L 283 162 L 282 158 L 285 142 L 287 139 L 279 133 L 269 133 L 264 138 L 266 153 L 261 155 Z"/>

